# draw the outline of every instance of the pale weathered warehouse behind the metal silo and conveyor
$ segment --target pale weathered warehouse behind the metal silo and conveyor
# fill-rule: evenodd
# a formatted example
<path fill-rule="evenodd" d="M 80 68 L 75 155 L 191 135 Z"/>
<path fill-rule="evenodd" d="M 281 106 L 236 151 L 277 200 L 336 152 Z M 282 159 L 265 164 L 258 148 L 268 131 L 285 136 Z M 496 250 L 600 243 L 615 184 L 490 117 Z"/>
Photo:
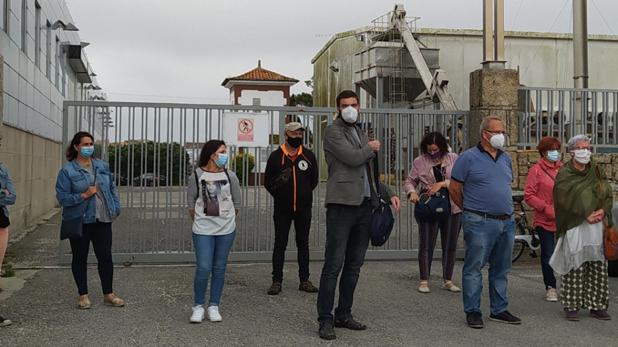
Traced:
<path fill-rule="evenodd" d="M 409 27 L 432 72 L 441 69 L 448 76 L 448 92 L 459 110 L 469 110 L 470 72 L 479 69 L 483 51 L 481 30 L 417 28 L 422 19 L 412 18 Z M 345 89 L 361 88 L 361 106 L 377 107 L 376 97 L 366 86 L 369 69 L 382 68 L 384 77 L 391 73 L 391 56 L 401 49 L 398 38 L 383 39 L 386 29 L 379 20 L 374 25 L 335 34 L 312 58 L 314 66 L 314 106 L 334 107 L 336 95 Z M 374 40 L 379 38 L 379 40 Z M 394 41 L 394 44 L 393 44 Z M 373 49 L 372 49 L 373 48 Z M 374 51 L 369 52 L 367 51 Z M 618 88 L 618 38 L 588 35 L 589 88 Z M 371 60 L 373 59 L 373 60 Z M 519 71 L 525 86 L 563 88 L 573 86 L 573 36 L 538 32 L 505 32 L 505 67 Z M 403 58 L 404 69 L 415 69 Z M 406 68 L 407 66 L 407 68 Z M 418 77 L 417 77 L 418 78 Z M 389 102 L 389 82 L 385 79 L 384 107 L 397 107 Z M 414 90 L 411 84 L 409 90 Z M 433 108 L 422 100 L 407 99 L 410 108 Z M 371 91 L 371 88 L 369 88 Z M 407 91 L 408 96 L 412 96 Z M 413 101 L 416 101 L 414 104 Z M 424 105 L 424 106 L 423 106 Z"/>

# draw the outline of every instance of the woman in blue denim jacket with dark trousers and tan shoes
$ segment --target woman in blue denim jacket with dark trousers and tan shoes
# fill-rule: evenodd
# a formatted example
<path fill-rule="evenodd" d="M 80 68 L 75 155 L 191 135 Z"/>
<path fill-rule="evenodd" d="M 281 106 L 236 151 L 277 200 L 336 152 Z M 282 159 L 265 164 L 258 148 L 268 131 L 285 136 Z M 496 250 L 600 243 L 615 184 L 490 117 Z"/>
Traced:
<path fill-rule="evenodd" d="M 71 270 L 79 291 L 78 308 L 91 307 L 88 298 L 87 260 L 92 242 L 98 261 L 103 287 L 103 304 L 124 306 L 124 300 L 112 291 L 114 267 L 111 255 L 111 224 L 120 214 L 120 201 L 115 193 L 109 167 L 103 160 L 93 158 L 93 136 L 78 132 L 67 148 L 69 163 L 60 169 L 56 181 L 56 198 L 62 206 L 64 219 L 84 216 L 82 237 L 69 239 L 73 261 Z"/>

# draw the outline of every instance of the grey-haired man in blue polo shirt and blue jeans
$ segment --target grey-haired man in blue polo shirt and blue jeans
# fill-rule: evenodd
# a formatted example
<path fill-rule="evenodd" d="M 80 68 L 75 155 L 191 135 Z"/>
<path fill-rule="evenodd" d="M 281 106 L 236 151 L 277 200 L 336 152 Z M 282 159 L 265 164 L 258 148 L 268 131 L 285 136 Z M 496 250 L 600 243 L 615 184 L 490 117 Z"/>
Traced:
<path fill-rule="evenodd" d="M 499 118 L 483 119 L 480 131 L 481 143 L 457 158 L 448 187 L 450 198 L 464 210 L 461 224 L 466 256 L 461 290 L 466 320 L 472 328 L 483 328 L 481 270 L 486 263 L 490 264 L 490 320 L 521 323 L 507 311 L 507 275 L 515 238 L 511 157 L 501 150 L 504 125 Z"/>

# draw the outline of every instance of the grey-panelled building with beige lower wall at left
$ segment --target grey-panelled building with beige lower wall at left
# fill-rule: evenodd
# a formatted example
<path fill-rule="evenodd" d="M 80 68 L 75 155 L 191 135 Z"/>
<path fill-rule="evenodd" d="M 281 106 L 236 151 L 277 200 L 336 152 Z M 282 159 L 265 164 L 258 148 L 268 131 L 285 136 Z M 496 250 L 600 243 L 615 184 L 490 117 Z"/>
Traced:
<path fill-rule="evenodd" d="M 80 40 L 64 0 L 5 0 L 2 11 L 0 161 L 15 187 L 17 202 L 9 210 L 11 228 L 19 229 L 57 206 L 54 187 L 64 154 L 62 101 L 104 95 L 84 51 L 88 43 Z M 101 120 L 95 127 L 98 138 Z M 87 122 L 82 119 L 84 128 Z"/>

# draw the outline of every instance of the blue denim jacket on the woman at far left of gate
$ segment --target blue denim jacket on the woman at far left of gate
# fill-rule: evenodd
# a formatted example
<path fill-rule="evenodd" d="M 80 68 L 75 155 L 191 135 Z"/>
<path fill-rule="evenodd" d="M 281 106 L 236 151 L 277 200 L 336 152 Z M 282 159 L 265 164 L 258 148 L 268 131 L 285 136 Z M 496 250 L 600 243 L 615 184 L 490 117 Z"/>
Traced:
<path fill-rule="evenodd" d="M 120 215 L 120 200 L 116 195 L 114 181 L 109 172 L 107 163 L 103 160 L 93 158 L 93 170 L 96 170 L 96 180 L 99 184 L 105 202 L 110 213 Z M 62 217 L 65 219 L 75 219 L 84 216 L 84 224 L 95 223 L 97 206 L 94 195 L 86 200 L 82 199 L 82 193 L 93 184 L 93 180 L 86 170 L 71 160 L 65 167 L 58 172 L 56 180 L 56 199 L 62 206 Z"/>

